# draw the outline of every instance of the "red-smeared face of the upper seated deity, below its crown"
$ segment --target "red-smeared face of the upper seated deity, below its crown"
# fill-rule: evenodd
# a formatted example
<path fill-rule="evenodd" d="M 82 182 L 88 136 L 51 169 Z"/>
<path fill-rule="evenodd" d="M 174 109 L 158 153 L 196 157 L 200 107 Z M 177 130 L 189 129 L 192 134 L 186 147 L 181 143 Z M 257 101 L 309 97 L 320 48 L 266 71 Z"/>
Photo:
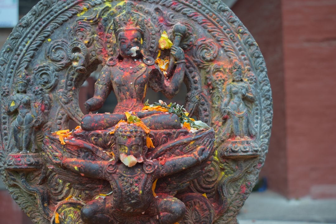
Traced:
<path fill-rule="evenodd" d="M 118 34 L 119 54 L 125 58 L 138 57 L 141 50 L 141 33 L 136 30 L 126 30 Z"/>

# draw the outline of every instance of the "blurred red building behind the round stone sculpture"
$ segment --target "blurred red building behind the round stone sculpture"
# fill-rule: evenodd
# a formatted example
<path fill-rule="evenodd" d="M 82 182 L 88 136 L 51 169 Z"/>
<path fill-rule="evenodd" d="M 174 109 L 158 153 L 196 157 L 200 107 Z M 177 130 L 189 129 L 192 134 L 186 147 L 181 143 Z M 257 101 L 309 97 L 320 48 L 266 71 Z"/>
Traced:
<path fill-rule="evenodd" d="M 0 8 L 4 2 L 0 0 Z M 37 2 L 19 0 L 19 16 Z M 289 199 L 336 198 L 336 0 L 224 2 L 257 41 L 272 88 L 272 136 L 260 178 Z M 11 30 L 0 28 L 0 48 Z M 83 86 L 80 101 L 93 95 L 93 83 L 94 75 Z M 176 102 L 183 104 L 183 91 Z M 150 101 L 163 99 L 148 96 Z M 111 111 L 111 105 L 105 109 Z M 1 224 L 31 224 L 1 181 L 0 198 Z"/>

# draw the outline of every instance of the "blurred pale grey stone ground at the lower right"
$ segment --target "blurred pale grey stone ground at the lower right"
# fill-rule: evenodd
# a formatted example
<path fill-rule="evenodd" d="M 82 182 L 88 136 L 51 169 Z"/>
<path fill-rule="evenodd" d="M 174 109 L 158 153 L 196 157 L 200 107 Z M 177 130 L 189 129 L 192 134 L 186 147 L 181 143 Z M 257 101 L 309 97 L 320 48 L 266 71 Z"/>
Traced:
<path fill-rule="evenodd" d="M 239 224 L 336 224 L 336 198 L 287 199 L 268 190 L 252 192 L 237 218 Z"/>

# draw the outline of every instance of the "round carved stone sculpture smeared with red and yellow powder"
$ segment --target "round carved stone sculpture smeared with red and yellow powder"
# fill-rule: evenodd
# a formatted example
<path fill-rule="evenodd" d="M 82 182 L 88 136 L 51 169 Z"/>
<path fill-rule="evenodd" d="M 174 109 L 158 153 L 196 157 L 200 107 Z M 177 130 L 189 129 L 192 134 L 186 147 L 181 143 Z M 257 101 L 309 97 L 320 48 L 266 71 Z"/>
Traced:
<path fill-rule="evenodd" d="M 0 79 L 0 176 L 34 223 L 237 224 L 272 99 L 258 45 L 220 0 L 42 0 L 1 50 Z M 181 85 L 184 106 L 169 103 Z M 145 102 L 150 88 L 167 99 Z M 95 114 L 112 91 L 114 110 Z"/>

